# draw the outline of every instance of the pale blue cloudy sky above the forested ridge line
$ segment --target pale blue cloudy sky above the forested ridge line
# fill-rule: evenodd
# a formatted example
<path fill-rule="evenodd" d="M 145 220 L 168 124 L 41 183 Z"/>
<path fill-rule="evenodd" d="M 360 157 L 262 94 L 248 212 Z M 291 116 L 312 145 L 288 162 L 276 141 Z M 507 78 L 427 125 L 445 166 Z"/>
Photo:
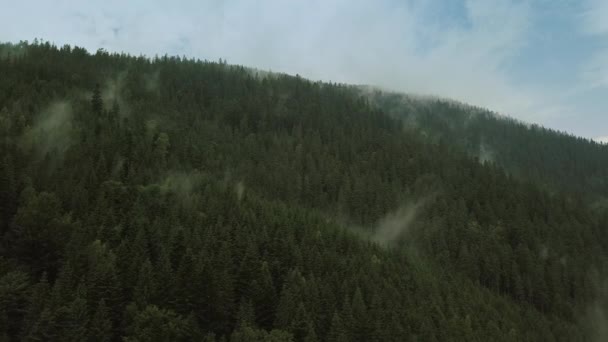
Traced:
<path fill-rule="evenodd" d="M 0 41 L 225 59 L 608 142 L 608 0 L 0 0 Z"/>

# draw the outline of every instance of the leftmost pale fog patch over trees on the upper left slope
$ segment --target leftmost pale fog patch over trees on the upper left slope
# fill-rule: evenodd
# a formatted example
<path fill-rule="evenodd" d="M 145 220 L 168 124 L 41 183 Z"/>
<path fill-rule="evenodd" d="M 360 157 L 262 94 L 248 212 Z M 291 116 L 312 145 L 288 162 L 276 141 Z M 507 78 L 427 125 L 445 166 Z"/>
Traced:
<path fill-rule="evenodd" d="M 63 156 L 72 141 L 72 117 L 69 102 L 51 103 L 34 119 L 32 126 L 26 128 L 21 147 L 26 151 L 35 151 L 40 156 L 47 153 Z"/>

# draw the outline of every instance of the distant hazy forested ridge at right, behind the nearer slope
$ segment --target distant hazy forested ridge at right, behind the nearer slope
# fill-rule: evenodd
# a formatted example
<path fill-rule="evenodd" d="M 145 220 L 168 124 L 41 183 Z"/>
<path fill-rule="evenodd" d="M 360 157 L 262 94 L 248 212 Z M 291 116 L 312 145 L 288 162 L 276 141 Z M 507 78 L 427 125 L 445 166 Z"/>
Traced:
<path fill-rule="evenodd" d="M 407 129 L 423 132 L 429 141 L 451 144 L 551 192 L 577 192 L 606 207 L 608 145 L 454 101 L 370 88 L 362 91 L 375 105 L 402 119 Z"/>

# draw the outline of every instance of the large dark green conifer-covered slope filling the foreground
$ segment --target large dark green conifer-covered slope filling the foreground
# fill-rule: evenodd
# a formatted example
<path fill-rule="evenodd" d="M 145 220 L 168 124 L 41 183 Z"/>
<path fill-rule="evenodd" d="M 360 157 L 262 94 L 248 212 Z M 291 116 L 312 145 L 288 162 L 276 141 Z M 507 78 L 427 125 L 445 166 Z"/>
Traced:
<path fill-rule="evenodd" d="M 586 188 L 390 114 L 224 61 L 0 45 L 0 339 L 601 340 Z"/>

